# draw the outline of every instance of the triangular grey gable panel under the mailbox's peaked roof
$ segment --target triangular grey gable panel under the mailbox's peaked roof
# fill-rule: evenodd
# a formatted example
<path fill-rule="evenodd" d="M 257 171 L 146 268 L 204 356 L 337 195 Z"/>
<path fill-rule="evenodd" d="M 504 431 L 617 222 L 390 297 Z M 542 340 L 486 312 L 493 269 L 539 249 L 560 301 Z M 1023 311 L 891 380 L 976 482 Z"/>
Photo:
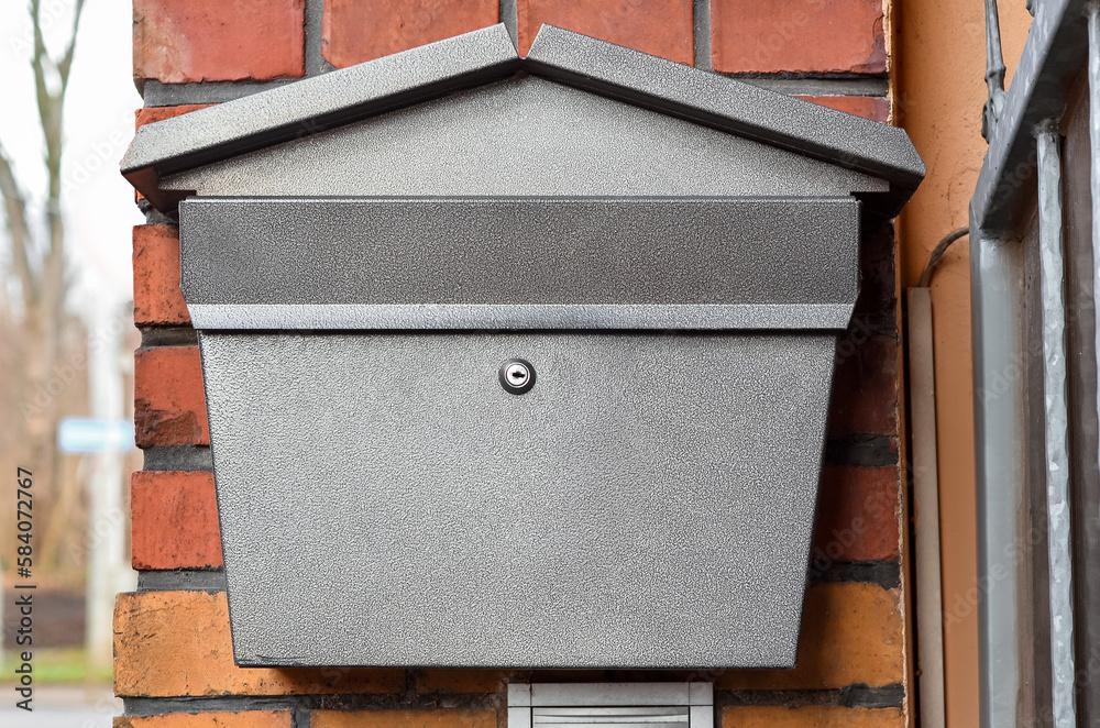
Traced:
<path fill-rule="evenodd" d="M 518 76 L 166 177 L 162 189 L 201 196 L 821 197 L 880 192 L 888 184 Z"/>

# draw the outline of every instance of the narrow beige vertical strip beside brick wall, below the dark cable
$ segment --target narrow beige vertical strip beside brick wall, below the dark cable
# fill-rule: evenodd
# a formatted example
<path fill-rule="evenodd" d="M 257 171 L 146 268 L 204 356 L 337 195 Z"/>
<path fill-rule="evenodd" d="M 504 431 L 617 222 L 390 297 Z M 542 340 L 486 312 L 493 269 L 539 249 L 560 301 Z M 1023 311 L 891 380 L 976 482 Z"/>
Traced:
<path fill-rule="evenodd" d="M 909 289 L 910 416 L 916 509 L 916 632 L 923 728 L 946 724 L 943 587 L 939 563 L 939 477 L 936 456 L 936 363 L 932 289 Z"/>

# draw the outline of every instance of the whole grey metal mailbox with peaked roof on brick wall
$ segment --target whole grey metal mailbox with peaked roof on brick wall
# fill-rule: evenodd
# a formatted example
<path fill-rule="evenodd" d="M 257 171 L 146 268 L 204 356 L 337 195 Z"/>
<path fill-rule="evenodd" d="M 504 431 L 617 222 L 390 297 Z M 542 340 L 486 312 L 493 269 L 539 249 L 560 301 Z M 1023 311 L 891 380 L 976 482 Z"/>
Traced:
<path fill-rule="evenodd" d="M 242 665 L 794 664 L 905 134 L 544 26 L 144 126 Z"/>

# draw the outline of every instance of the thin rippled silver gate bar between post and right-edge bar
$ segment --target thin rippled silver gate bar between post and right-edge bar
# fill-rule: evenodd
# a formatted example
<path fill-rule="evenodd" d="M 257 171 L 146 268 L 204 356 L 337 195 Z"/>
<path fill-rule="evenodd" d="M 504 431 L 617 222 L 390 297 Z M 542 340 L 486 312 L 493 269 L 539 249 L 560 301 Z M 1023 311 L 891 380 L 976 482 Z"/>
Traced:
<path fill-rule="evenodd" d="M 1050 560 L 1050 670 L 1054 728 L 1077 727 L 1074 660 L 1074 563 L 1070 542 L 1069 411 L 1066 293 L 1063 265 L 1062 162 L 1058 124 L 1043 124 L 1038 152 L 1038 224 L 1043 307 L 1043 399 L 1046 519 Z"/>

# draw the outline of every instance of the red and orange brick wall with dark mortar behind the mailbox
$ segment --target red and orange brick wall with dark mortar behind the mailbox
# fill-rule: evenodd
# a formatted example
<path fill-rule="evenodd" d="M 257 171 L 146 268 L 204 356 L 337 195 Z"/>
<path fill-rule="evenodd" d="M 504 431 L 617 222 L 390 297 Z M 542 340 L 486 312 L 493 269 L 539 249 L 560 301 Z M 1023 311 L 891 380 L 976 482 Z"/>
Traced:
<path fill-rule="evenodd" d="M 890 117 L 878 0 L 134 0 L 148 123 L 496 22 L 521 49 L 542 22 L 851 113 Z M 143 205 L 139 200 L 140 205 Z M 143 208 L 147 206 L 143 205 Z M 199 355 L 177 229 L 134 230 L 139 591 L 119 597 L 116 691 L 132 728 L 495 728 L 529 672 L 233 665 Z M 889 228 L 868 231 L 864 293 L 838 346 L 798 668 L 716 681 L 722 728 L 905 725 L 898 300 Z M 691 675 L 697 677 L 697 675 Z M 629 680 L 629 673 L 566 679 Z M 683 680 L 684 673 L 647 674 Z"/>

